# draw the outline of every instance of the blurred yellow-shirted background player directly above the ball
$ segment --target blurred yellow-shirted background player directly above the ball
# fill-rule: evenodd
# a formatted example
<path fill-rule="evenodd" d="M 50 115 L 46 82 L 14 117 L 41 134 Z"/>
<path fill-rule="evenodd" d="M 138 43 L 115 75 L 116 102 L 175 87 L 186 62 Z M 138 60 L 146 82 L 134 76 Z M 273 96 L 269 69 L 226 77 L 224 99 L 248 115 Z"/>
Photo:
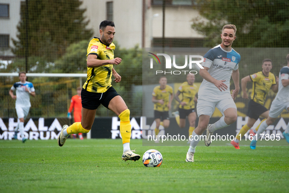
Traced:
<path fill-rule="evenodd" d="M 154 114 L 156 121 L 156 138 L 159 133 L 160 122 L 163 122 L 163 127 L 168 128 L 170 126 L 169 110 L 171 109 L 173 96 L 173 88 L 167 85 L 167 78 L 161 76 L 159 78 L 159 86 L 156 86 L 153 91 L 152 102 L 154 104 Z M 158 140 L 155 141 L 156 143 Z"/>

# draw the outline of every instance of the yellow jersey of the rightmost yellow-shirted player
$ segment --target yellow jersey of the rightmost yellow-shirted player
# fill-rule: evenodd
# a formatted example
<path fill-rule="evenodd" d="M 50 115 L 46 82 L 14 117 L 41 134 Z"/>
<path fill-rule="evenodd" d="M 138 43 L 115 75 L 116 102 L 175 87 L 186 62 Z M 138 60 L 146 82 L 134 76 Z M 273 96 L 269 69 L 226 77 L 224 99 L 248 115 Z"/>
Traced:
<path fill-rule="evenodd" d="M 276 84 L 276 79 L 275 79 L 274 74 L 269 72 L 269 75 L 266 76 L 261 71 L 261 72 L 251 74 L 250 78 L 253 81 L 251 99 L 261 105 L 264 105 L 266 96 L 271 86 Z"/>

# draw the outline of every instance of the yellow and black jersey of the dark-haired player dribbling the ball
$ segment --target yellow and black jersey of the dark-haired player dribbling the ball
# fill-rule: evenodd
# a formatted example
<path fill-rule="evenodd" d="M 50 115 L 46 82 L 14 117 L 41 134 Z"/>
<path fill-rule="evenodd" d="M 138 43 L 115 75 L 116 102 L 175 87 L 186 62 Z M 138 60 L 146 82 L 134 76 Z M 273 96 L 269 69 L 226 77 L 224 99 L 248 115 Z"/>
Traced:
<path fill-rule="evenodd" d="M 97 55 L 98 60 L 112 60 L 114 58 L 115 45 L 111 43 L 108 47 L 99 38 L 94 37 L 89 42 L 88 54 Z M 87 81 L 83 88 L 92 93 L 104 93 L 111 87 L 112 64 L 89 68 Z"/>

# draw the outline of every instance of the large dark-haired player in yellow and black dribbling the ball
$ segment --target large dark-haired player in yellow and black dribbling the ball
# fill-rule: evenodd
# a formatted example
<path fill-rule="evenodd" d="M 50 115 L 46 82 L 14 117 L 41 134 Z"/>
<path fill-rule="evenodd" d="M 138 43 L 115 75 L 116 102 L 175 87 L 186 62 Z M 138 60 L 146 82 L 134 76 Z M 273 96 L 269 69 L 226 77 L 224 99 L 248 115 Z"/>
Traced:
<path fill-rule="evenodd" d="M 88 133 L 92 127 L 96 109 L 100 104 L 113 111 L 120 118 L 120 134 L 123 143 L 122 160 L 139 160 L 140 156 L 130 149 L 131 123 L 130 110 L 121 96 L 111 86 L 111 75 L 115 82 L 121 76 L 113 65 L 119 65 L 121 58 L 114 58 L 115 46 L 112 43 L 115 34 L 114 23 L 103 21 L 99 25 L 100 38 L 94 37 L 87 50 L 87 81 L 81 91 L 82 119 L 71 126 L 64 125 L 58 137 L 58 145 L 63 146 L 68 135 Z"/>

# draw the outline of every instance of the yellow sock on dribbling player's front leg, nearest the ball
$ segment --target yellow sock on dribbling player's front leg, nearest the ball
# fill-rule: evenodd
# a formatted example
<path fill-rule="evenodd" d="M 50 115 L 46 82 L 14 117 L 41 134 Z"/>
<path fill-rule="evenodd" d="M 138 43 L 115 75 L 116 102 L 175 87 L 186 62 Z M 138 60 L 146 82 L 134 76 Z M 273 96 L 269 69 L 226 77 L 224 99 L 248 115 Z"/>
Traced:
<path fill-rule="evenodd" d="M 120 119 L 120 135 L 122 137 L 122 144 L 130 143 L 132 135 L 130 110 L 124 110 L 118 117 Z"/>

